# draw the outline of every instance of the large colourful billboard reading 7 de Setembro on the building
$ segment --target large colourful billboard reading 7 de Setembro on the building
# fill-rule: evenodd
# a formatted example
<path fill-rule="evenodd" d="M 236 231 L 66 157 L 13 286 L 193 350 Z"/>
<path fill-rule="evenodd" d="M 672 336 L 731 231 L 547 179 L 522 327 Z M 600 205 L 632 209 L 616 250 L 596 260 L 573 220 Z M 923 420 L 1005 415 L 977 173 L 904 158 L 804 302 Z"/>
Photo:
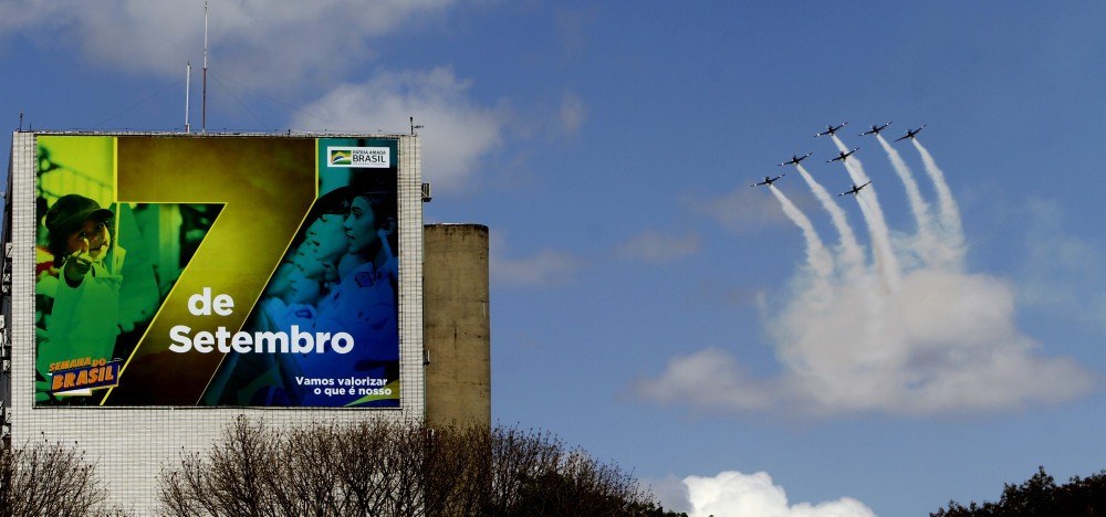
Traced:
<path fill-rule="evenodd" d="M 34 405 L 398 408 L 397 143 L 40 135 Z"/>

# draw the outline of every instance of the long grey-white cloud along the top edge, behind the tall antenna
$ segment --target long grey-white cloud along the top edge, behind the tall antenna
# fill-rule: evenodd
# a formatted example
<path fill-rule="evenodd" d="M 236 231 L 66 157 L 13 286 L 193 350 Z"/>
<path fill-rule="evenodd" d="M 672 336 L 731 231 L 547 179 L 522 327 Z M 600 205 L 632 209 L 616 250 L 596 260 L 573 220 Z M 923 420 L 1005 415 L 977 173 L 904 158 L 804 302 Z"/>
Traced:
<path fill-rule="evenodd" d="M 253 87 L 333 81 L 363 66 L 369 40 L 409 32 L 446 11 L 452 0 L 212 1 L 212 71 Z M 121 70 L 180 75 L 199 66 L 204 48 L 200 0 L 7 1 L 0 34 L 22 33 L 62 44 Z M 231 72 L 232 71 L 232 72 Z M 325 83 L 321 83 L 325 84 Z"/>

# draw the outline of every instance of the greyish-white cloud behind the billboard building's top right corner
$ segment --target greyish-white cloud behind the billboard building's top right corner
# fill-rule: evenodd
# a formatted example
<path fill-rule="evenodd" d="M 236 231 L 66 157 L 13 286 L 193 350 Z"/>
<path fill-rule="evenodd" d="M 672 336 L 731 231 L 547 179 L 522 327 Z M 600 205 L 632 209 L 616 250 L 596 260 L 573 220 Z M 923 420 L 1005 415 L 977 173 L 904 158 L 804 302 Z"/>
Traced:
<path fill-rule="evenodd" d="M 424 126 L 422 178 L 459 187 L 479 170 L 480 158 L 501 143 L 503 116 L 468 98 L 471 82 L 452 68 L 382 73 L 363 84 L 343 84 L 304 106 L 293 120 L 302 130 L 365 131 Z"/>

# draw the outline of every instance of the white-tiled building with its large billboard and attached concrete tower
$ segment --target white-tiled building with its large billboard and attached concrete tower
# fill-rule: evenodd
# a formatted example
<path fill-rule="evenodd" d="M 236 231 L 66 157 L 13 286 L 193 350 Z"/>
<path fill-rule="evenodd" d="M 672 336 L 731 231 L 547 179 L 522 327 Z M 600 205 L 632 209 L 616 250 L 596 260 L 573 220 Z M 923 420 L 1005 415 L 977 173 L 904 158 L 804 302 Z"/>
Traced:
<path fill-rule="evenodd" d="M 408 135 L 13 134 L 7 440 L 150 513 L 239 415 L 490 424 L 487 228 L 421 187 Z"/>

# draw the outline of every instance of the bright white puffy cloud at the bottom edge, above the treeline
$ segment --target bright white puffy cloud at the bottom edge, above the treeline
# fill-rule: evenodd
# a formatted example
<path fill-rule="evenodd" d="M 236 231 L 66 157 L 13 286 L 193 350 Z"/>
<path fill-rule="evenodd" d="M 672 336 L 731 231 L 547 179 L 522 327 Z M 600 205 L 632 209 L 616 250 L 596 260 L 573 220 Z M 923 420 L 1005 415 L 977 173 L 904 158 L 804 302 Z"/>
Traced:
<path fill-rule="evenodd" d="M 687 511 L 690 517 L 875 517 L 870 508 L 852 497 L 824 502 L 789 504 L 783 487 L 772 483 L 764 472 L 742 474 L 735 471 L 713 477 L 688 476 L 685 490 L 669 489 L 671 499 L 661 498 L 666 508 Z M 686 499 L 681 499 L 686 497 Z"/>

